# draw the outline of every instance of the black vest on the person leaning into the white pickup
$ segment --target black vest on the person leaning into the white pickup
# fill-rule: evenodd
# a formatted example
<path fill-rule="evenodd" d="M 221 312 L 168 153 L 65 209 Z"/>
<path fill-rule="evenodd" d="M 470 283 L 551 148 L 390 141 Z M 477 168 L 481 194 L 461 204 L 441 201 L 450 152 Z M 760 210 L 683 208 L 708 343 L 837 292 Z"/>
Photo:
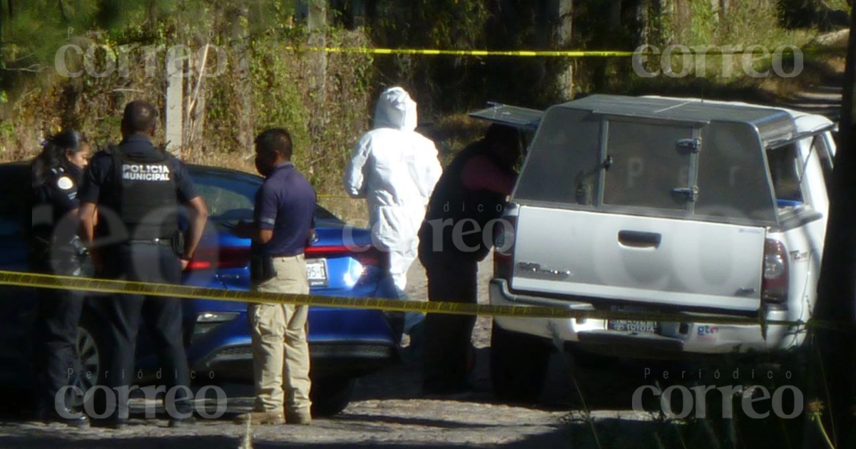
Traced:
<path fill-rule="evenodd" d="M 461 151 L 458 157 L 455 157 L 449 167 L 443 170 L 443 176 L 434 187 L 434 192 L 431 195 L 431 202 L 428 204 L 428 210 L 425 213 L 425 222 L 419 229 L 419 257 L 420 259 L 428 260 L 443 260 L 443 258 L 467 259 L 467 260 L 482 260 L 490 252 L 492 245 L 493 230 L 484 230 L 484 227 L 491 225 L 491 220 L 495 220 L 502 216 L 502 211 L 505 209 L 505 194 L 490 192 L 486 190 L 471 190 L 464 187 L 461 174 L 467 162 L 475 156 L 484 156 L 497 162 L 498 166 L 502 166 L 496 157 L 490 151 L 484 140 L 469 145 Z M 443 226 L 442 241 L 435 242 L 434 229 L 439 227 L 437 221 L 447 221 L 451 219 L 449 225 Z M 461 222 L 466 223 L 460 224 Z M 477 227 L 470 220 L 478 223 L 480 232 L 474 233 Z M 455 227 L 458 228 L 455 231 Z M 458 234 L 455 237 L 455 233 Z M 485 245 L 485 236 L 487 243 Z M 475 251 L 467 251 L 464 247 L 456 245 L 455 241 L 460 240 L 466 248 Z M 435 246 L 442 248 L 442 252 L 436 251 Z"/>

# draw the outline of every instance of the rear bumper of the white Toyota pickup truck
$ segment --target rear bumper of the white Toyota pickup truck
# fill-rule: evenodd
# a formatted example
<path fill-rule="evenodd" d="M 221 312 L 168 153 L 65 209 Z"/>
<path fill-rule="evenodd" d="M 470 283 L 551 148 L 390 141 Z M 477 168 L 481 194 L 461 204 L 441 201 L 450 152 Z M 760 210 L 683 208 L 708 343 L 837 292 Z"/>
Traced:
<path fill-rule="evenodd" d="M 558 306 L 574 310 L 595 310 L 591 303 L 521 295 L 508 290 L 502 279 L 490 281 L 490 304 Z M 687 316 L 689 318 L 689 316 Z M 787 310 L 772 310 L 767 319 L 788 320 Z M 681 358 L 687 354 L 728 352 L 775 352 L 800 346 L 805 327 L 775 325 L 722 325 L 704 322 L 662 322 L 658 334 L 610 330 L 607 320 L 517 318 L 496 316 L 496 325 L 521 334 L 574 343 L 580 349 L 617 357 Z"/>

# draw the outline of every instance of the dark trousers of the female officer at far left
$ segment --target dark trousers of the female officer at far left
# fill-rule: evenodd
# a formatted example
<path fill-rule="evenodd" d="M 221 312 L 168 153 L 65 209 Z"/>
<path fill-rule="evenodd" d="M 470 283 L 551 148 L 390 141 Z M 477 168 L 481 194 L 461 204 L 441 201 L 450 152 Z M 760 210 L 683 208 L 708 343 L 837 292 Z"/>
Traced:
<path fill-rule="evenodd" d="M 84 298 L 84 292 L 39 289 L 33 354 L 39 379 L 37 408 L 41 411 L 53 411 L 56 394 L 80 375 L 77 325 Z"/>

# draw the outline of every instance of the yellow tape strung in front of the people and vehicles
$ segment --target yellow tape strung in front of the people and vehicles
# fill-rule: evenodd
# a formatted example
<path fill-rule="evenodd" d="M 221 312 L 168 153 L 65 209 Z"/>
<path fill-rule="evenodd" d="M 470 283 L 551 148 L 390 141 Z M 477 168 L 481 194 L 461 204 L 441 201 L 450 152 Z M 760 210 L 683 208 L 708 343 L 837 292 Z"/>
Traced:
<path fill-rule="evenodd" d="M 490 305 L 439 301 L 405 301 L 386 298 L 348 298 L 319 295 L 283 294 L 224 290 L 209 287 L 191 287 L 150 282 L 118 281 L 84 278 L 76 276 L 43 275 L 18 271 L 0 270 L 0 285 L 34 288 L 52 288 L 99 293 L 141 294 L 188 299 L 211 299 L 215 301 L 237 301 L 256 304 L 297 304 L 345 309 L 372 309 L 399 312 L 440 313 L 473 316 L 514 316 L 528 318 L 576 318 L 595 320 L 632 320 L 657 322 L 694 322 L 704 324 L 732 325 L 785 325 L 814 326 L 823 328 L 846 328 L 837 323 L 765 320 L 762 316 L 723 316 L 713 314 L 645 313 L 614 310 L 582 310 L 570 306 L 540 305 Z"/>

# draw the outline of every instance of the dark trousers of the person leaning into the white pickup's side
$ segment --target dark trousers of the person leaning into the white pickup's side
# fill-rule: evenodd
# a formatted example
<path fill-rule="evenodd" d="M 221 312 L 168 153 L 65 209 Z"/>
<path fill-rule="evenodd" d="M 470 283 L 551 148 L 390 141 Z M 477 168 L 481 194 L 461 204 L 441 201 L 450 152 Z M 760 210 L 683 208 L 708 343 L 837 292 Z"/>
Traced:
<path fill-rule="evenodd" d="M 478 302 L 479 265 L 472 260 L 422 260 L 428 276 L 428 300 Z M 426 392 L 456 392 L 468 388 L 467 356 L 472 346 L 475 316 L 425 316 L 423 387 Z"/>

